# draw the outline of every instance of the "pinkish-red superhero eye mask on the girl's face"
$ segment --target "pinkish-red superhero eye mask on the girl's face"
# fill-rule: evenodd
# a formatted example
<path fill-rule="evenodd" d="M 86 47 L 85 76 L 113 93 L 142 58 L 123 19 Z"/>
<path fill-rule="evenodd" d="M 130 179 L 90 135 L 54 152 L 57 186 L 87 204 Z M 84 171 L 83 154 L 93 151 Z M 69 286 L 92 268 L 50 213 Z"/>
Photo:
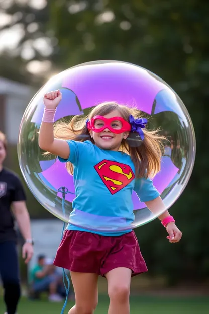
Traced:
<path fill-rule="evenodd" d="M 89 130 L 97 133 L 106 128 L 116 134 L 131 131 L 131 124 L 121 117 L 104 118 L 103 116 L 95 116 L 86 121 L 86 126 Z"/>

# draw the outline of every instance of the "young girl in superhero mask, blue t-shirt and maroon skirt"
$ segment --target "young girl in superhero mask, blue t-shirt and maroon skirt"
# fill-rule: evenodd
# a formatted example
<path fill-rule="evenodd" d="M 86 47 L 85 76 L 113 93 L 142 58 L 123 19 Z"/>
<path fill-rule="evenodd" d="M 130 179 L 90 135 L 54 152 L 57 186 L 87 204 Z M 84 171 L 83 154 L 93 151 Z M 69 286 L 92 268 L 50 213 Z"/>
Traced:
<path fill-rule="evenodd" d="M 156 131 L 144 130 L 146 119 L 135 119 L 139 111 L 114 102 L 96 106 L 88 119 L 75 116 L 69 124 L 56 124 L 54 136 L 54 115 L 61 98 L 59 90 L 44 96 L 39 146 L 67 163 L 74 177 L 73 225 L 68 224 L 54 261 L 70 270 L 76 304 L 68 314 L 94 312 L 99 275 L 108 281 L 108 314 L 129 314 L 131 277 L 146 272 L 147 267 L 134 231 L 120 229 L 124 221 L 130 225 L 134 220 L 133 190 L 151 212 L 164 208 L 149 179 L 160 170 L 163 138 Z M 139 134 L 141 145 L 133 147 L 129 134 Z M 99 232 L 93 227 L 89 231 L 82 227 L 86 219 L 88 224 L 96 219 L 104 225 L 114 222 L 119 231 Z M 182 233 L 173 217 L 165 211 L 159 219 L 169 234 L 167 239 L 178 242 Z"/>

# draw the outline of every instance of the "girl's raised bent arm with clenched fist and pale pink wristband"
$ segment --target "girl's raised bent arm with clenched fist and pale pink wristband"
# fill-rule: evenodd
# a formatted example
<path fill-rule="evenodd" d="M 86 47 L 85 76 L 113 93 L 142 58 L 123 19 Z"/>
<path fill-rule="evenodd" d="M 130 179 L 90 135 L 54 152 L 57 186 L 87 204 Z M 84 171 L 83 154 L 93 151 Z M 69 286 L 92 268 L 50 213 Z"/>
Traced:
<path fill-rule="evenodd" d="M 44 115 L 39 130 L 39 147 L 61 158 L 68 159 L 70 148 L 66 140 L 54 138 L 53 122 L 56 108 L 62 99 L 60 91 L 44 95 Z"/>

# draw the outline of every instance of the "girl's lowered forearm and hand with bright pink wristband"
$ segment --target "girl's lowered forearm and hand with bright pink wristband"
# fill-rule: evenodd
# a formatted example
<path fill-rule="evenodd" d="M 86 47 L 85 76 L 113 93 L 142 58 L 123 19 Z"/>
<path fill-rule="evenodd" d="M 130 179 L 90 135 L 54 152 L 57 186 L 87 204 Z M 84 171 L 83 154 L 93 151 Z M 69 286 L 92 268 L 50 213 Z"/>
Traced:
<path fill-rule="evenodd" d="M 163 209 L 165 210 L 165 205 L 161 199 L 160 196 L 158 196 L 157 198 L 153 199 L 152 201 L 148 201 L 145 202 L 145 205 L 147 206 L 147 208 L 154 214 L 157 215 L 159 212 L 162 212 Z M 158 216 L 158 218 L 163 221 L 164 218 L 169 217 L 170 214 L 167 210 L 164 211 L 163 214 L 161 214 L 160 216 Z M 167 236 L 167 239 L 171 242 L 171 243 L 175 243 L 175 242 L 179 242 L 181 237 L 182 237 L 182 233 L 181 231 L 177 228 L 177 226 L 175 225 L 174 222 L 169 222 L 166 225 L 166 230 L 169 234 L 169 236 Z"/>

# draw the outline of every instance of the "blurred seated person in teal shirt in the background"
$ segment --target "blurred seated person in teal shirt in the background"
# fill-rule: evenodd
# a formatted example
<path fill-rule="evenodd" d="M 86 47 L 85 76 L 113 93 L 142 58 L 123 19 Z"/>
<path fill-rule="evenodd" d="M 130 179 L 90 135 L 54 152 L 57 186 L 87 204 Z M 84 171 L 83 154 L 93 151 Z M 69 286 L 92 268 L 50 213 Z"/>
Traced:
<path fill-rule="evenodd" d="M 39 255 L 37 265 L 30 274 L 31 292 L 34 297 L 39 297 L 41 292 L 49 292 L 49 301 L 60 302 L 63 300 L 58 293 L 60 286 L 60 275 L 56 272 L 53 261 L 46 259 L 44 255 Z"/>

